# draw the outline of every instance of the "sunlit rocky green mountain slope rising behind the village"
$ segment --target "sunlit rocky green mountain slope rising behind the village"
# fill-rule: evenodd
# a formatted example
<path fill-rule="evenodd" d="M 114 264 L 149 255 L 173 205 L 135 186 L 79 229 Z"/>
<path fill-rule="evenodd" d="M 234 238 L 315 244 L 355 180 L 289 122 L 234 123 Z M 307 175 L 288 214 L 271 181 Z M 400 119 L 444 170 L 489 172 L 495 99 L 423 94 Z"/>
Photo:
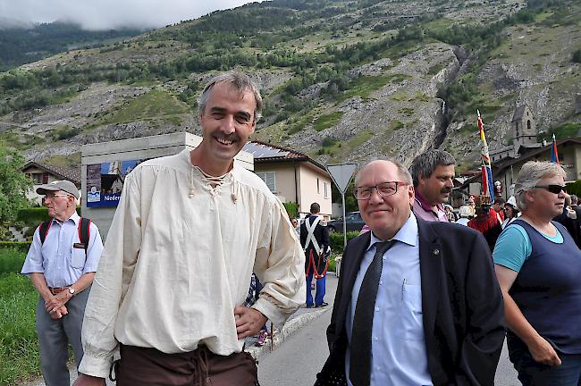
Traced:
<path fill-rule="evenodd" d="M 577 125 L 579 64 L 570 54 L 579 48 L 580 8 L 540 0 L 248 4 L 0 74 L 0 138 L 30 158 L 63 162 L 97 140 L 199 134 L 200 88 L 216 71 L 239 67 L 265 97 L 256 138 L 323 163 L 389 155 L 408 164 L 445 147 L 467 169 L 479 153 L 476 108 L 493 148 L 509 143 L 511 114 L 523 103 L 543 130 Z"/>

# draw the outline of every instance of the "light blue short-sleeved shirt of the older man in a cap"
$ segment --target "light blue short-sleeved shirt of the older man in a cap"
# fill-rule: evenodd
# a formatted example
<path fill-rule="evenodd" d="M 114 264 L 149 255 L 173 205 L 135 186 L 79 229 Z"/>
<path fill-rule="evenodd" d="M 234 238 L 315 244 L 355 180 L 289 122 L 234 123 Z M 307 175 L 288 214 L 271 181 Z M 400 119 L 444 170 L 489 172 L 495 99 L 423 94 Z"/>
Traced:
<path fill-rule="evenodd" d="M 97 225 L 91 222 L 85 256 L 85 249 L 72 248 L 74 243 L 80 243 L 79 222 L 80 216 L 76 212 L 64 222 L 53 219 L 44 244 L 40 243 L 38 227 L 21 273 L 44 273 L 48 287 L 65 287 L 85 273 L 97 272 L 103 252 L 101 235 Z"/>

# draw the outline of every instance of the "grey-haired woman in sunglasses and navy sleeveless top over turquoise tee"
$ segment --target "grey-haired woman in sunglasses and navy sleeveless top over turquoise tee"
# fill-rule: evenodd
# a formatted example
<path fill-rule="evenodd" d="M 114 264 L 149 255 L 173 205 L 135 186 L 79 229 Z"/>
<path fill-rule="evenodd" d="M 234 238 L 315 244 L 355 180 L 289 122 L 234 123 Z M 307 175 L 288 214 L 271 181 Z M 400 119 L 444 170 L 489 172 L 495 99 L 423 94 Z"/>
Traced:
<path fill-rule="evenodd" d="M 564 189 L 559 164 L 524 164 L 515 184 L 522 215 L 493 252 L 509 358 L 523 385 L 581 384 L 581 250 L 552 222 L 563 212 Z"/>

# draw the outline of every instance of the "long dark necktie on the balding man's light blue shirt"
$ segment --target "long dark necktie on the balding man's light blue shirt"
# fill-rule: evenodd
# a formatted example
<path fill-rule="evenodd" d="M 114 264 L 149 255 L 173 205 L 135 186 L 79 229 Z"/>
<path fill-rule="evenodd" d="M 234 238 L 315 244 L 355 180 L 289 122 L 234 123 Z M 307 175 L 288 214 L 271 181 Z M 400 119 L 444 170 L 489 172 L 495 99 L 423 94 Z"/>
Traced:
<path fill-rule="evenodd" d="M 369 386 L 371 376 L 371 331 L 375 298 L 382 276 L 383 254 L 395 240 L 375 243 L 375 256 L 361 282 L 351 332 L 349 379 L 353 386 Z"/>

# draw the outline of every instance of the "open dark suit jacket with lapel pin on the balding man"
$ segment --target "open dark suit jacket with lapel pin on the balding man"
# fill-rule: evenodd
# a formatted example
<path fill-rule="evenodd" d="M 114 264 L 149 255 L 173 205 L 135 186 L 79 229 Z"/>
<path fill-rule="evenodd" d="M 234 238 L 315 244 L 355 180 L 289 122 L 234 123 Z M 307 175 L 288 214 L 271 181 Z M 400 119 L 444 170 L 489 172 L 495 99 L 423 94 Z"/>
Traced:
<path fill-rule="evenodd" d="M 493 385 L 504 341 L 504 307 L 493 260 L 477 231 L 417 219 L 428 370 L 434 385 Z M 370 232 L 349 241 L 327 329 L 330 356 L 316 385 L 344 384 L 345 318 Z M 333 380 L 333 381 L 332 381 Z"/>

